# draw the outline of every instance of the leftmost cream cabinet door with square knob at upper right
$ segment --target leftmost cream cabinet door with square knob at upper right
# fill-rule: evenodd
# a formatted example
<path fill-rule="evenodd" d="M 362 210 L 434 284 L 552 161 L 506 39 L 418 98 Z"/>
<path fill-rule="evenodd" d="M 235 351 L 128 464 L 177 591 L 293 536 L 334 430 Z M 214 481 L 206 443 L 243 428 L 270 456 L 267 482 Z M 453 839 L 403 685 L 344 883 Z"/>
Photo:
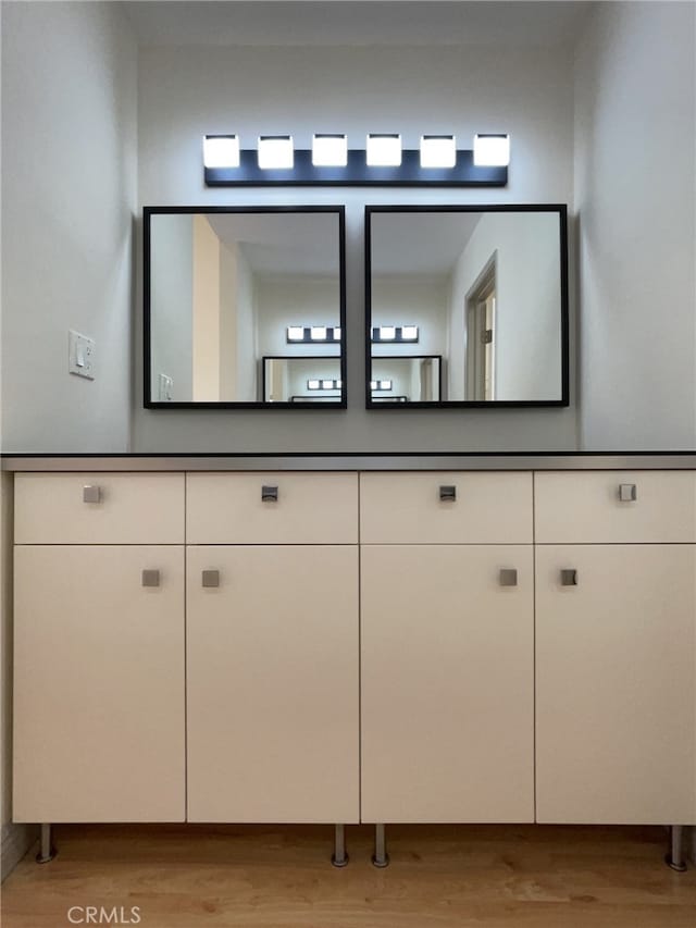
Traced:
<path fill-rule="evenodd" d="M 184 820 L 184 547 L 14 560 L 14 820 Z"/>

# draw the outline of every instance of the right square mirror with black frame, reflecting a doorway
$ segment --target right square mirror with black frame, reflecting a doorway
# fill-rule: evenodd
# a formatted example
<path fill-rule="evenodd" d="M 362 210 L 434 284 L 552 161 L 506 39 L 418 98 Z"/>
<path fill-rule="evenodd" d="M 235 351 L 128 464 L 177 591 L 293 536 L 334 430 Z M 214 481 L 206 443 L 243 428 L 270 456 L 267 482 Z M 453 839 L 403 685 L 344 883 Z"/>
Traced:
<path fill-rule="evenodd" d="M 366 207 L 368 408 L 568 406 L 567 251 L 564 206 Z"/>

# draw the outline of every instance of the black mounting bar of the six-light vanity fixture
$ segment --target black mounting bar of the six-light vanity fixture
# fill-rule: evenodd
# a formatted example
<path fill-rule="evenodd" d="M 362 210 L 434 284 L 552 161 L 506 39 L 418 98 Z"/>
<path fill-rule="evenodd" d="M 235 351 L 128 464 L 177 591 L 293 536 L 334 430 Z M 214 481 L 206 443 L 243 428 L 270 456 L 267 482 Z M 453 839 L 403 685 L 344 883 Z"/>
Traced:
<path fill-rule="evenodd" d="M 259 168 L 256 148 L 239 152 L 238 168 L 204 168 L 207 187 L 373 187 L 394 184 L 402 187 L 505 187 L 507 168 L 480 168 L 473 149 L 459 149 L 453 168 L 421 168 L 421 152 L 408 148 L 396 168 L 375 168 L 366 163 L 364 149 L 349 149 L 345 168 L 318 168 L 311 149 L 295 151 L 293 168 Z"/>

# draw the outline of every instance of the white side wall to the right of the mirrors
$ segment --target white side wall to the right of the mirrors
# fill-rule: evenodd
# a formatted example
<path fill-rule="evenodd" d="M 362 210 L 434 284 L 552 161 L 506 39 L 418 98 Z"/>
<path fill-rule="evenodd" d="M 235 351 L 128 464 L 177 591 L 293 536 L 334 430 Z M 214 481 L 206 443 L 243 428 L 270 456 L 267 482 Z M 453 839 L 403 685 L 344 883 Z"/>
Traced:
<path fill-rule="evenodd" d="M 696 446 L 695 12 L 598 3 L 577 47 L 583 449 Z"/>

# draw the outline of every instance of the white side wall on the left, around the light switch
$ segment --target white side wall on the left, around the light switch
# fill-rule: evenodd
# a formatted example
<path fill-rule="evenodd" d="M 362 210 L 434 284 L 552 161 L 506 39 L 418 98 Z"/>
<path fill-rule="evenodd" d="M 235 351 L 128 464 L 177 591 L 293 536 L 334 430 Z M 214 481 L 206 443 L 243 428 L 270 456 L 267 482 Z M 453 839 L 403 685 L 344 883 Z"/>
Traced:
<path fill-rule="evenodd" d="M 137 52 L 117 4 L 2 3 L 5 451 L 124 451 Z M 67 373 L 67 330 L 97 379 Z"/>

